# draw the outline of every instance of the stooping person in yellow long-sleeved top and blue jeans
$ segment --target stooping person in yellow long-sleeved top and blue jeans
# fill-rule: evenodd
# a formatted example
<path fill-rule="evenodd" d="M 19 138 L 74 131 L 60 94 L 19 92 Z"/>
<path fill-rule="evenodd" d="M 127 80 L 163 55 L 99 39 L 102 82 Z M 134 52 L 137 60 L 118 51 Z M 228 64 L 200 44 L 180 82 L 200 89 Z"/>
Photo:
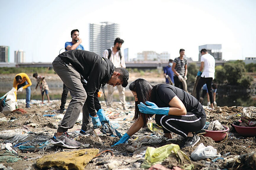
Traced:
<path fill-rule="evenodd" d="M 24 72 L 21 72 L 15 76 L 13 81 L 13 88 L 17 90 L 17 92 L 22 92 L 22 90 L 26 89 L 26 108 L 30 108 L 30 95 L 31 89 L 30 86 L 32 85 L 30 78 Z M 17 100 L 17 94 L 16 94 Z"/>

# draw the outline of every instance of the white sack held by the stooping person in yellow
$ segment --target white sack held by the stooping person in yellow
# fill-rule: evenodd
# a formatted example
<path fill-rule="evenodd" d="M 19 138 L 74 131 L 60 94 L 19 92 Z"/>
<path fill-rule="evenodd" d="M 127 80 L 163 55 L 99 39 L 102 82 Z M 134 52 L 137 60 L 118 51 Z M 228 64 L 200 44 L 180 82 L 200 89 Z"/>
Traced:
<path fill-rule="evenodd" d="M 3 112 L 12 112 L 16 109 L 15 102 L 16 102 L 16 95 L 15 95 L 15 88 L 12 88 L 9 92 L 7 92 L 4 96 L 5 99 L 5 106 L 3 107 Z"/>

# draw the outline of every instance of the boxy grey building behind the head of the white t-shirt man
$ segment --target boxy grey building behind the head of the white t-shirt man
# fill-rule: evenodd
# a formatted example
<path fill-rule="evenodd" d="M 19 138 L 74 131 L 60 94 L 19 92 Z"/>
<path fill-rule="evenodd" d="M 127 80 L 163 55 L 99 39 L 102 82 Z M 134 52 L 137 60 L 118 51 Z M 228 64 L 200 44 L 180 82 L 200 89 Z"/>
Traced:
<path fill-rule="evenodd" d="M 201 61 L 201 49 L 207 49 L 207 52 L 212 55 L 216 61 L 222 60 L 221 44 L 206 44 L 199 46 L 199 57 L 198 61 Z"/>

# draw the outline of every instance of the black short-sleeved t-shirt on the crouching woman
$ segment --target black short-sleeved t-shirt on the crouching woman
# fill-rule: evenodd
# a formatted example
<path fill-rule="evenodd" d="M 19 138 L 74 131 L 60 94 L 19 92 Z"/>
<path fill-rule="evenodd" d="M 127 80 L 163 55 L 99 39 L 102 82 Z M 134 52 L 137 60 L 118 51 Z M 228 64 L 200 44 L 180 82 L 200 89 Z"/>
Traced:
<path fill-rule="evenodd" d="M 187 112 L 194 113 L 194 115 L 196 115 L 197 117 L 206 117 L 203 106 L 201 105 L 201 103 L 198 102 L 196 98 L 194 98 L 189 93 L 186 93 L 184 90 L 174 87 L 173 85 L 156 85 L 152 89 L 152 95 L 154 95 L 153 102 L 160 108 L 170 107 L 170 100 L 172 100 L 174 96 L 177 96 L 185 105 Z"/>

